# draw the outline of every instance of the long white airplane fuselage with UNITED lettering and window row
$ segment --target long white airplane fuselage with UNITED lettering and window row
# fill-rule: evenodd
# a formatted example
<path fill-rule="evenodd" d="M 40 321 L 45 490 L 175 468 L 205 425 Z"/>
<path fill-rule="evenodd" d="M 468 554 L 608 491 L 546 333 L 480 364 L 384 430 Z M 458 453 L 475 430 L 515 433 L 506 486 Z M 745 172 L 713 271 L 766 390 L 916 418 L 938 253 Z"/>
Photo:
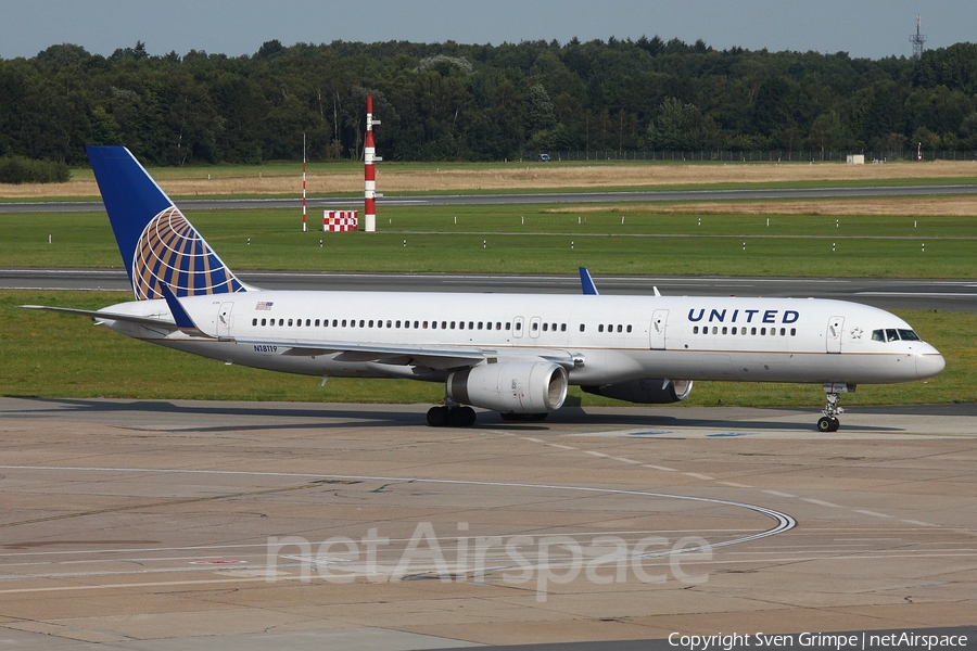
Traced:
<path fill-rule="evenodd" d="M 452 366 L 419 362 L 406 353 L 357 359 L 348 349 L 329 350 L 340 344 L 448 347 L 497 360 L 570 359 L 570 383 L 582 385 L 642 378 L 894 383 L 929 378 L 944 363 L 914 333 L 898 335 L 912 333 L 902 319 L 841 301 L 257 291 L 180 303 L 205 334 L 218 339 L 106 322 L 204 357 L 312 375 L 440 381 Z M 105 311 L 170 318 L 165 301 Z"/>

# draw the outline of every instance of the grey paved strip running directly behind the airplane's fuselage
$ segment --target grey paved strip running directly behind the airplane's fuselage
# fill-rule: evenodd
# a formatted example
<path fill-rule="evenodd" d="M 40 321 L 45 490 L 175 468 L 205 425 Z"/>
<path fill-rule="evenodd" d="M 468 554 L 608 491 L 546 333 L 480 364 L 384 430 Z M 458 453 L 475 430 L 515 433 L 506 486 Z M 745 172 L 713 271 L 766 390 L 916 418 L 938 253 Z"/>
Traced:
<path fill-rule="evenodd" d="M 243 271 L 241 280 L 268 290 L 557 293 L 581 291 L 578 276 L 479 273 L 348 273 Z M 605 294 L 836 298 L 883 309 L 977 311 L 977 281 L 898 278 L 734 278 L 598 276 Z M 131 292 L 122 269 L 4 269 L 0 289 Z"/>

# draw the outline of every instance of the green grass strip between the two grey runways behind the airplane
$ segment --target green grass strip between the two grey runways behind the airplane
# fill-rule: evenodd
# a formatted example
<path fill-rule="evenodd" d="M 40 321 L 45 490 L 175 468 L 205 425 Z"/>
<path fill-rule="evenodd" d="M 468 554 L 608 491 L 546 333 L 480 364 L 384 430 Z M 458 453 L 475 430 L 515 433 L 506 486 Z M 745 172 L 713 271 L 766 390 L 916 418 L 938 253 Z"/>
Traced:
<path fill-rule="evenodd" d="M 735 204 L 726 214 L 626 204 L 397 207 L 383 210 L 371 234 L 303 233 L 295 210 L 188 217 L 233 269 L 572 273 L 584 265 L 597 275 L 977 278 L 977 221 L 940 214 L 941 202 L 952 213 L 961 201 L 928 199 L 926 215 L 908 214 L 908 202 L 899 214 L 853 215 L 832 212 L 830 202 L 817 207 L 827 214 L 807 202 L 781 212 L 777 202 Z M 858 209 L 852 204 L 845 206 Z M 119 264 L 104 215 L 0 217 L 0 266 Z"/>

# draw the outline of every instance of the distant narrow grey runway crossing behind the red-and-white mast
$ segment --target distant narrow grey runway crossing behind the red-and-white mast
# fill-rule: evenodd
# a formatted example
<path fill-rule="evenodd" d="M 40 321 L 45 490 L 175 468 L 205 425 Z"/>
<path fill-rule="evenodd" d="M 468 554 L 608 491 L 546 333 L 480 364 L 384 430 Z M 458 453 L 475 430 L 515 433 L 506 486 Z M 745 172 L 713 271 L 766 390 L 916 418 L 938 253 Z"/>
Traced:
<path fill-rule="evenodd" d="M 951 186 L 877 186 L 857 188 L 773 188 L 751 190 L 650 190 L 630 192 L 532 192 L 507 194 L 428 194 L 386 195 L 377 200 L 378 206 L 462 206 L 519 205 L 540 203 L 627 203 L 659 201 L 734 201 L 784 199 L 846 199 L 873 196 L 936 196 L 977 194 L 977 184 Z M 361 202 L 361 196 L 312 197 L 309 208 L 347 208 Z M 185 210 L 300 208 L 302 199 L 180 199 Z M 0 202 L 3 213 L 98 213 L 104 210 L 101 201 Z"/>

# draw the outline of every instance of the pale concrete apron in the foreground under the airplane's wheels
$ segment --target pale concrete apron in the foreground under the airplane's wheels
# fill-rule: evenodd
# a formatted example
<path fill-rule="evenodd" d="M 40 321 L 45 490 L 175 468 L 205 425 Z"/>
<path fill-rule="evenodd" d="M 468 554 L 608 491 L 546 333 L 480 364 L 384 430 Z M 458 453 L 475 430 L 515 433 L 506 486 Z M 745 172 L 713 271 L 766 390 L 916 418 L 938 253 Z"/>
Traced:
<path fill-rule="evenodd" d="M 977 634 L 972 405 L 426 408 L 0 399 L 0 647 Z"/>

